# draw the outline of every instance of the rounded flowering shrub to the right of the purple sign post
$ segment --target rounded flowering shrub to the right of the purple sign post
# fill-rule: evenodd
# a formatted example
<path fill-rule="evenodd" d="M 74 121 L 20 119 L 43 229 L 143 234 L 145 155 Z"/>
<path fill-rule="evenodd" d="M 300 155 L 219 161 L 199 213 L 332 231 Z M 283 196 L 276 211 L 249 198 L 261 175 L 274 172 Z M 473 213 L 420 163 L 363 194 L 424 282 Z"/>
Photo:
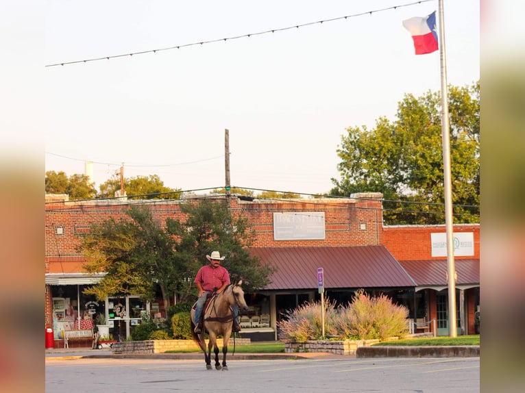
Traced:
<path fill-rule="evenodd" d="M 407 332 L 408 309 L 395 305 L 388 296 L 370 297 L 364 290 L 354 294 L 351 304 L 339 309 L 337 330 L 351 340 L 386 340 Z"/>

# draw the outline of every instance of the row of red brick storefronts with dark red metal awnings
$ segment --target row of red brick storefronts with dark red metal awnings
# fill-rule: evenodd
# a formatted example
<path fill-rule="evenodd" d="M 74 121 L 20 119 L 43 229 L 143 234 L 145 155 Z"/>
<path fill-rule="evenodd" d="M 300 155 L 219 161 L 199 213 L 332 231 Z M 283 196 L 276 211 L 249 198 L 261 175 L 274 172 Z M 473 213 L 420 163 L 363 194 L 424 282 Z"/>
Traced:
<path fill-rule="evenodd" d="M 224 196 L 215 198 L 225 200 Z M 267 288 L 247 294 L 249 317 L 254 318 L 246 322 L 243 336 L 276 338 L 282 311 L 318 299 L 319 267 L 324 269 L 324 288 L 330 299 L 349 301 L 358 288 L 386 293 L 406 305 L 411 318 L 436 319 L 438 333 L 445 334 L 446 256 L 432 256 L 440 252 L 439 233 L 445 227 L 384 227 L 381 198 L 378 193 L 354 194 L 348 199 L 245 201 L 230 197 L 232 214 L 242 213 L 256 231 L 250 253 L 277 268 Z M 162 302 L 144 303 L 138 296 L 97 302 L 82 292 L 103 276 L 103 272 L 87 275 L 82 269 L 82 236 L 92 223 L 123 217 L 132 203 L 144 201 L 67 201 L 65 196 L 47 196 L 45 323 L 53 327 L 57 341 L 60 331 L 80 327 L 84 318 L 125 338 L 141 322 L 141 312 L 153 316 L 164 312 Z M 161 222 L 168 217 L 184 220 L 180 201 L 148 201 L 147 205 Z M 479 305 L 479 226 L 458 225 L 454 234 L 456 231 L 473 239 L 465 251 L 472 255 L 458 257 L 456 270 L 461 295 L 457 297 L 465 299 L 459 307 L 463 310 L 461 326 L 464 333 L 474 333 L 474 312 Z M 257 318 L 260 316 L 267 316 L 264 323 Z"/>

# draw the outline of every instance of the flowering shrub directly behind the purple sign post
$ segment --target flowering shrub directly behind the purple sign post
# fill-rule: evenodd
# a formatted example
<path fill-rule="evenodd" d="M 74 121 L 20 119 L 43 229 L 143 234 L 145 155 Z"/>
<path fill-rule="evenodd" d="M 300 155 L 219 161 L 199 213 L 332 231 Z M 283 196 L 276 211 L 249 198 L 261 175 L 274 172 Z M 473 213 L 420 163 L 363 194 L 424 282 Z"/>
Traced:
<path fill-rule="evenodd" d="M 289 310 L 284 320 L 278 322 L 279 338 L 292 342 L 319 340 L 323 336 L 321 323 L 321 302 L 304 303 L 296 309 Z M 325 302 L 325 335 L 337 333 L 334 316 L 337 314 L 334 303 Z"/>

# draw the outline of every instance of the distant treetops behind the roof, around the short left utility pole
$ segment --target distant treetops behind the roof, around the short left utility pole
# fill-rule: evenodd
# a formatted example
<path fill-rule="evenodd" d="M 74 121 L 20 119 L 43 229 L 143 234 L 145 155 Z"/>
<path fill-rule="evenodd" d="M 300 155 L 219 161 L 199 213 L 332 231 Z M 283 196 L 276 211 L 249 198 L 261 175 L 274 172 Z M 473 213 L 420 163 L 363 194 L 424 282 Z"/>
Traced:
<path fill-rule="evenodd" d="M 100 185 L 99 197 L 112 198 L 115 191 L 120 190 L 120 188 L 120 176 L 113 175 Z M 182 194 L 180 188 L 164 186 L 164 182 L 160 180 L 158 175 L 125 177 L 124 190 L 129 199 L 180 199 Z"/>

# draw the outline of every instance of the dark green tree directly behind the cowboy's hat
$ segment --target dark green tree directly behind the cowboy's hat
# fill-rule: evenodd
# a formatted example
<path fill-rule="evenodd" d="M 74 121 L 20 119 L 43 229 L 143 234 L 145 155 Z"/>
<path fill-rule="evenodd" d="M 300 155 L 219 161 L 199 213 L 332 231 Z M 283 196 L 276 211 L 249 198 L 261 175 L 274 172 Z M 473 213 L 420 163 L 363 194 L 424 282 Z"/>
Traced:
<path fill-rule="evenodd" d="M 189 272 L 177 283 L 175 291 L 180 301 L 195 296 L 193 279 L 197 270 L 207 264 L 206 255 L 219 251 L 225 255 L 223 266 L 230 272 L 232 282 L 243 280 L 247 292 L 253 292 L 269 283 L 271 266 L 260 264 L 249 255 L 245 247 L 254 242 L 254 232 L 242 216 L 232 218 L 228 205 L 223 201 L 203 199 L 188 200 L 181 205 L 187 214 L 184 222 L 168 218 L 167 231 L 175 236 L 177 255 L 188 263 Z"/>

